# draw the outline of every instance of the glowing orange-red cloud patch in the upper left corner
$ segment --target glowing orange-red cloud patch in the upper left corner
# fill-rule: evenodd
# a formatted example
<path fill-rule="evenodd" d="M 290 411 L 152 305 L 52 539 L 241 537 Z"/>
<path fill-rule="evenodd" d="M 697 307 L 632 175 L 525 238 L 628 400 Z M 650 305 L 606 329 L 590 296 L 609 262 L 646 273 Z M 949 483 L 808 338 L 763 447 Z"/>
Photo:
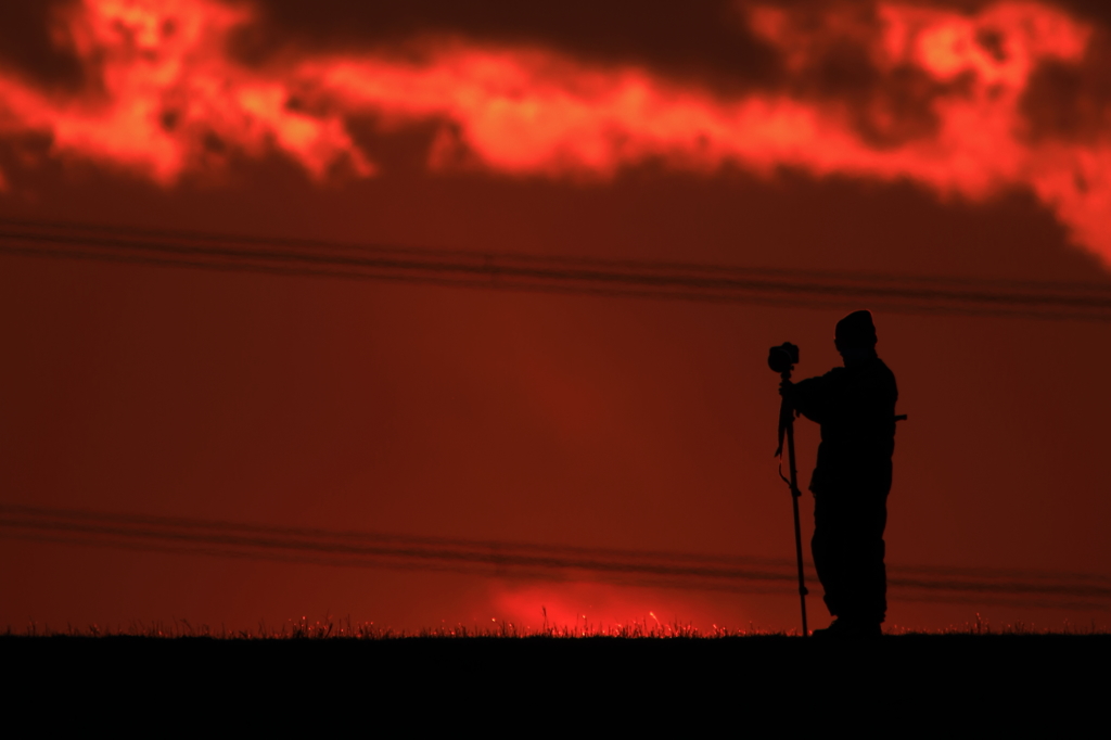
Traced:
<path fill-rule="evenodd" d="M 63 19 L 64 43 L 96 80 L 87 93 L 49 93 L 0 76 L 0 132 L 43 131 L 53 151 L 126 168 L 169 184 L 229 148 L 278 149 L 314 177 L 347 156 L 372 168 L 343 121 L 290 108 L 290 80 L 226 53 L 251 16 L 208 0 L 84 0 Z"/>

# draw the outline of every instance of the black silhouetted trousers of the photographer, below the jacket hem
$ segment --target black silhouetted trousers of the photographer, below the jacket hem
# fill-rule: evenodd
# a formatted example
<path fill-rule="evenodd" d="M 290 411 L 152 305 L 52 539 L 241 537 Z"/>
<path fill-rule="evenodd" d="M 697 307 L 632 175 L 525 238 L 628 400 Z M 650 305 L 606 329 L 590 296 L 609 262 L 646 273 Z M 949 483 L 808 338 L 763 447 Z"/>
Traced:
<path fill-rule="evenodd" d="M 830 613 L 844 622 L 879 624 L 888 610 L 883 529 L 888 494 L 822 491 L 814 496 L 810 549 Z"/>

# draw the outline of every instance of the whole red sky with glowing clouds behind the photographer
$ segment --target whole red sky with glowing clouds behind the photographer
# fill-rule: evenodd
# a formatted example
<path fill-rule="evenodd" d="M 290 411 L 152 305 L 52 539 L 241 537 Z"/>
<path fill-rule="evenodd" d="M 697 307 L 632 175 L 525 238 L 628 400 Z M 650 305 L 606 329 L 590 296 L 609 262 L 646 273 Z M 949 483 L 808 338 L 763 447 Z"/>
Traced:
<path fill-rule="evenodd" d="M 0 216 L 1107 283 L 1105 12 L 6 9 Z M 790 339 L 800 373 L 823 372 L 845 312 L 0 264 L 4 503 L 774 558 L 792 541 L 767 348 Z M 1111 577 L 1108 324 L 877 321 L 910 414 L 889 562 Z M 807 469 L 817 434 L 800 433 Z M 0 551 L 13 626 L 531 623 L 541 604 L 561 620 L 797 621 L 790 596 Z M 893 592 L 889 622 L 1087 624 L 1105 609 Z"/>

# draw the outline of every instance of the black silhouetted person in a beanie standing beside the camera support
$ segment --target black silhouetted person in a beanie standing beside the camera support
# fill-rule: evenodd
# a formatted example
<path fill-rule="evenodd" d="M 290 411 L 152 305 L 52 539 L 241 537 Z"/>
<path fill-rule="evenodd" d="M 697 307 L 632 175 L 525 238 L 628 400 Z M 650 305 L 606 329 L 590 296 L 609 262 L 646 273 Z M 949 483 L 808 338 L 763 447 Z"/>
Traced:
<path fill-rule="evenodd" d="M 883 528 L 894 452 L 895 377 L 875 354 L 868 311 L 837 324 L 834 346 L 844 360 L 819 378 L 784 381 L 782 393 L 821 424 L 810 542 L 825 606 L 837 619 L 815 636 L 879 637 L 887 602 Z"/>

